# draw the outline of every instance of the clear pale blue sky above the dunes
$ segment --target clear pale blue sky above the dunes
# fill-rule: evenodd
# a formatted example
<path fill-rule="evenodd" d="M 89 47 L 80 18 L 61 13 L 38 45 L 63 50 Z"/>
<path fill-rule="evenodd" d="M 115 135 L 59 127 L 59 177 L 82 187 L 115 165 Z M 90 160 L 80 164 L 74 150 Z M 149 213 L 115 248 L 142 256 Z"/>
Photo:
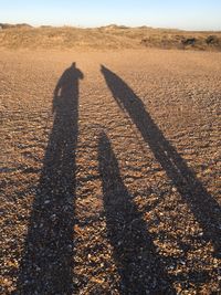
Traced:
<path fill-rule="evenodd" d="M 0 22 L 221 30 L 221 0 L 0 0 Z"/>

